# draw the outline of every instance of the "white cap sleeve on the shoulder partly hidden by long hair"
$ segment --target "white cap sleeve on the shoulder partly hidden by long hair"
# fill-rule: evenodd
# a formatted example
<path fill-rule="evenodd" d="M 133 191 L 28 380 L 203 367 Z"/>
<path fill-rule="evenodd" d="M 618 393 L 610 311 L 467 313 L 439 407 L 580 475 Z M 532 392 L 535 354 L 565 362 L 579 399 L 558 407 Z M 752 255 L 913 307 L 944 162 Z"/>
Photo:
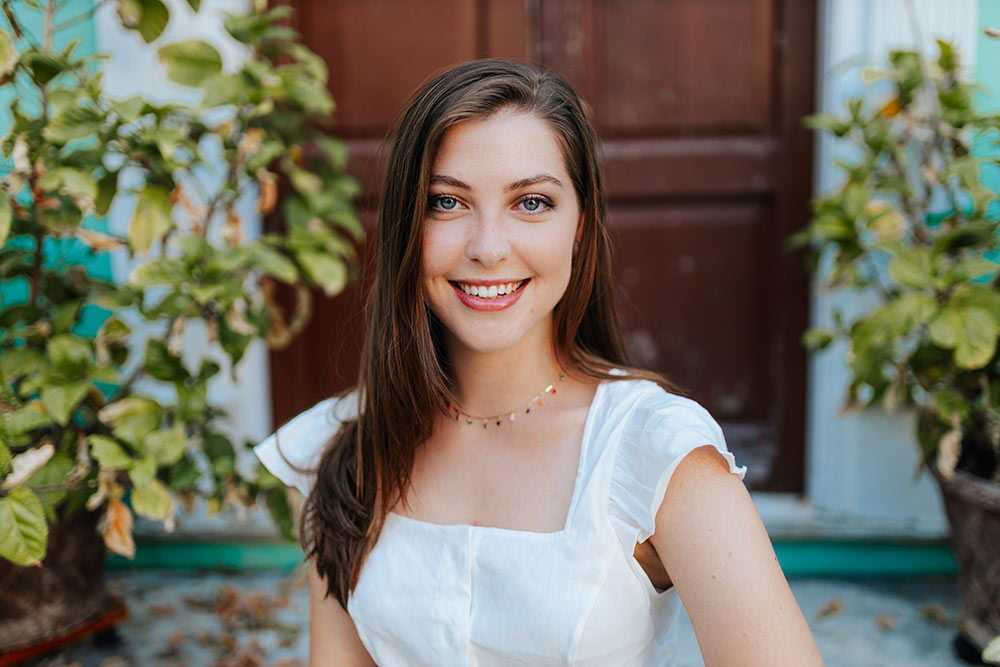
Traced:
<path fill-rule="evenodd" d="M 301 412 L 254 447 L 254 454 L 272 475 L 309 495 L 319 458 L 341 423 L 357 416 L 357 396 L 320 401 Z"/>

